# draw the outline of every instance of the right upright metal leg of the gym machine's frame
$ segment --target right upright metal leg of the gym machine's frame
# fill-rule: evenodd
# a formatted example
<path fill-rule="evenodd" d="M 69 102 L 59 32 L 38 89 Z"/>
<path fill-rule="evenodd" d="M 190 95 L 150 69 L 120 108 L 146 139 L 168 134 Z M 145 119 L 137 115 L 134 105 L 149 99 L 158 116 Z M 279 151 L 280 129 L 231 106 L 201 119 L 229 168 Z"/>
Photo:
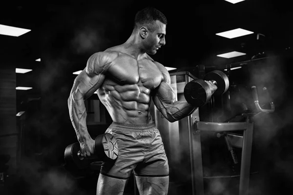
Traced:
<path fill-rule="evenodd" d="M 249 194 L 253 122 L 249 122 L 249 119 L 247 119 L 247 123 L 248 128 L 243 132 L 239 195 Z"/>

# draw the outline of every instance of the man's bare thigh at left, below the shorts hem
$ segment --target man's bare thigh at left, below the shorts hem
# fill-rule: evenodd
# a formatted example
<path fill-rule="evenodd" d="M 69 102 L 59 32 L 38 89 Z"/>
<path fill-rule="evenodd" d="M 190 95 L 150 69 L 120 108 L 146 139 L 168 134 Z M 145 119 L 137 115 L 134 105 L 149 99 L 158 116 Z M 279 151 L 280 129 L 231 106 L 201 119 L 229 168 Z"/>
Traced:
<path fill-rule="evenodd" d="M 97 195 L 123 195 L 127 179 L 118 179 L 100 174 Z"/>

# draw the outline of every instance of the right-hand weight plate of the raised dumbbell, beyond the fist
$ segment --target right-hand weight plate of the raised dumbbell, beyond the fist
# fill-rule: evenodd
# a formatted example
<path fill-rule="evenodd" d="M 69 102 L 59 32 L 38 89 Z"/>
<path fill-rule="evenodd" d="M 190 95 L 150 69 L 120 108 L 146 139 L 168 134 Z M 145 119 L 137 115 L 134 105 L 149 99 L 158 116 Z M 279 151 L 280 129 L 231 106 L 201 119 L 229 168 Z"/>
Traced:
<path fill-rule="evenodd" d="M 215 80 L 217 82 L 217 90 L 213 93 L 215 96 L 224 94 L 229 88 L 229 78 L 225 73 L 214 70 L 205 75 L 204 80 Z"/>

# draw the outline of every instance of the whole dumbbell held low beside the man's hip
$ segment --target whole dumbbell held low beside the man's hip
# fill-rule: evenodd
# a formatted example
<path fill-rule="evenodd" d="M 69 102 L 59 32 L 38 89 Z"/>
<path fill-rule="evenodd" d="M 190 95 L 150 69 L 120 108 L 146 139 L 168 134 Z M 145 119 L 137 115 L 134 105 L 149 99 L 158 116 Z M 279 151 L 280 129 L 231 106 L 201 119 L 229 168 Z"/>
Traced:
<path fill-rule="evenodd" d="M 74 164 L 79 169 L 87 168 L 94 161 L 113 161 L 118 156 L 118 144 L 111 134 L 102 134 L 95 138 L 95 157 L 86 158 L 81 156 L 80 143 L 75 142 L 68 145 L 64 151 L 64 159 L 68 166 Z"/>

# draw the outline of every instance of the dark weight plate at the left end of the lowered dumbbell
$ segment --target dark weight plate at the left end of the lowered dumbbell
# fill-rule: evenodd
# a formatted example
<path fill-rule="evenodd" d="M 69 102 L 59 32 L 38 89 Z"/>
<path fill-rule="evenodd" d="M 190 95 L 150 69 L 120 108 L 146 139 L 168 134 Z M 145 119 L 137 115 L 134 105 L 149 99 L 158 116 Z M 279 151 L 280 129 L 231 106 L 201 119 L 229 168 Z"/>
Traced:
<path fill-rule="evenodd" d="M 64 151 L 64 159 L 66 164 L 71 165 L 75 164 L 79 169 L 84 169 L 89 166 L 90 159 L 83 158 L 80 159 L 78 157 L 78 152 L 80 151 L 80 143 L 75 142 L 73 144 L 68 145 Z"/>

